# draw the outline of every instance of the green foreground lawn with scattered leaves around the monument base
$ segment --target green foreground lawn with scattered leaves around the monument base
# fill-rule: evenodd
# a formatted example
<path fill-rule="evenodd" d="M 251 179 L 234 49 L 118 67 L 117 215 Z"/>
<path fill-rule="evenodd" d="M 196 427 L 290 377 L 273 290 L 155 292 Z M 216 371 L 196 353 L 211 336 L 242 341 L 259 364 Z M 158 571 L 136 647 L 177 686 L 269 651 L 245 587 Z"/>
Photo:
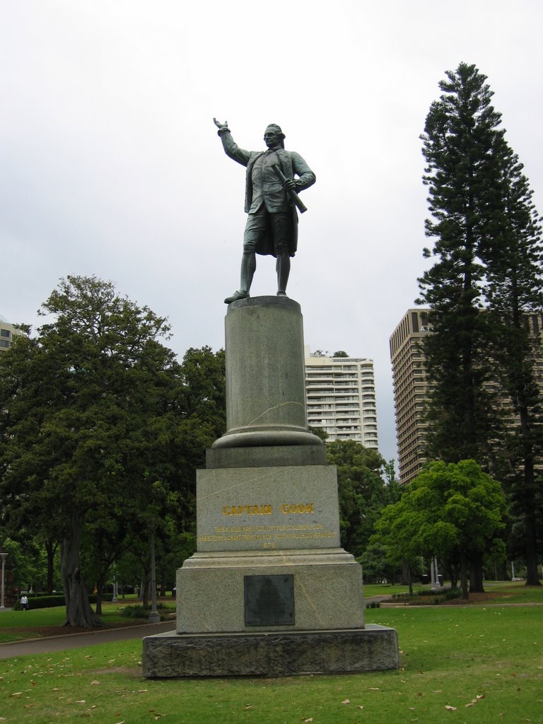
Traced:
<path fill-rule="evenodd" d="M 366 612 L 397 628 L 398 671 L 149 681 L 140 640 L 0 662 L 0 722 L 520 724 L 543 711 L 543 607 Z"/>

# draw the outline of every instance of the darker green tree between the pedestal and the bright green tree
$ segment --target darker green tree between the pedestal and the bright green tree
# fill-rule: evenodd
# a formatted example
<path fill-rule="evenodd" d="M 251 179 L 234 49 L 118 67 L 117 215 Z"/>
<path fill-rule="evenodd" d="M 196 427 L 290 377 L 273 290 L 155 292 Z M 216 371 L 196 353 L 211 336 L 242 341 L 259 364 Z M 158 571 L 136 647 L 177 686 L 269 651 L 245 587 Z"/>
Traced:
<path fill-rule="evenodd" d="M 379 452 L 354 440 L 330 442 L 327 457 L 337 466 L 342 546 L 358 556 L 388 502 L 387 487 L 380 475 L 385 463 Z"/>

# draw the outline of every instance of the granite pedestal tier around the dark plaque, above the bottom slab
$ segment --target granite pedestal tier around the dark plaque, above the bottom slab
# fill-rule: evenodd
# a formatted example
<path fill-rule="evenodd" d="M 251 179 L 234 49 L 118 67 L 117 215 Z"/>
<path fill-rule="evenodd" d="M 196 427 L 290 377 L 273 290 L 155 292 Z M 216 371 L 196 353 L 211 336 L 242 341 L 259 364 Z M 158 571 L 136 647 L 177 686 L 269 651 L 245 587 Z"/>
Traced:
<path fill-rule="evenodd" d="M 292 594 L 267 586 L 261 593 L 266 607 L 282 616 L 259 624 L 248 615 L 246 579 L 292 576 Z M 267 581 L 264 581 L 267 584 Z M 255 602 L 256 605 L 256 602 Z M 266 631 L 353 630 L 364 626 L 362 569 L 350 553 L 332 550 L 195 553 L 177 571 L 178 633 L 256 633 Z M 270 631 L 271 628 L 271 631 Z"/>

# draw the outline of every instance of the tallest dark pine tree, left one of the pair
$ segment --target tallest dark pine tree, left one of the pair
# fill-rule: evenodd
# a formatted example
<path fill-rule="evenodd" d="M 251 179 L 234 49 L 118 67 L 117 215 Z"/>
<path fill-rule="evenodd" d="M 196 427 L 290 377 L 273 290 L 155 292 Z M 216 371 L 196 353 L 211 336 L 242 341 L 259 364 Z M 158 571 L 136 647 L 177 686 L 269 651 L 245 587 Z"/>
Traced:
<path fill-rule="evenodd" d="M 479 311 L 484 267 L 479 247 L 494 235 L 494 209 L 500 203 L 502 143 L 500 114 L 492 92 L 473 65 L 460 64 L 439 84 L 443 95 L 426 117 L 424 183 L 429 187 L 426 236 L 433 237 L 426 257 L 438 261 L 419 279 L 421 303 L 431 309 L 433 334 L 424 352 L 434 392 L 430 455 L 446 462 L 466 458 L 489 461 L 489 439 L 497 436 L 488 357 L 487 318 Z"/>

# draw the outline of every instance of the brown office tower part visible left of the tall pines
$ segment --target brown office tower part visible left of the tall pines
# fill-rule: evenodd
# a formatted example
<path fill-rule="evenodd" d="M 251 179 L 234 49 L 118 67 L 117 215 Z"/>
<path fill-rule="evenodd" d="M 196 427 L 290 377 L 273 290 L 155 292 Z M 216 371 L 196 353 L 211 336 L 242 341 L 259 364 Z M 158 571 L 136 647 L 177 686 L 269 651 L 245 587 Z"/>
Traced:
<path fill-rule="evenodd" d="M 422 339 L 429 332 L 427 309 L 409 309 L 390 336 L 400 483 L 410 483 L 426 462 L 424 405 L 429 388 Z"/>

